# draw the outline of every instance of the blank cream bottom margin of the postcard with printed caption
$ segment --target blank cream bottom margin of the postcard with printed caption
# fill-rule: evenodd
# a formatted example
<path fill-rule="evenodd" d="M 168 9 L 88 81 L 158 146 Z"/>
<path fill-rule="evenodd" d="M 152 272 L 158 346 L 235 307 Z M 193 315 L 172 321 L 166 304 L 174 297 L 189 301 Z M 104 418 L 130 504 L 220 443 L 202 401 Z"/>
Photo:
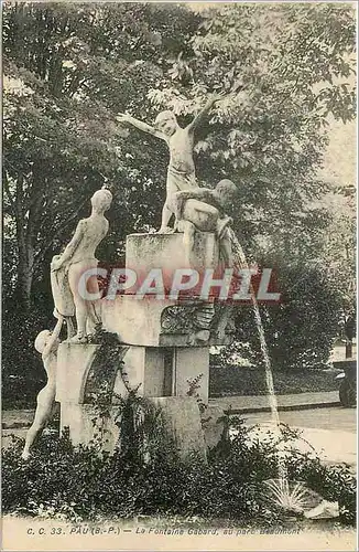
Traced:
<path fill-rule="evenodd" d="M 195 534 L 194 528 L 200 527 L 209 529 L 210 534 Z M 183 534 L 159 534 L 161 528 L 183 529 Z M 229 528 L 232 533 L 226 534 L 225 531 Z M 203 526 L 198 521 L 194 524 L 191 521 L 166 518 L 102 520 L 96 524 L 75 524 L 58 520 L 4 516 L 2 550 L 352 551 L 356 550 L 356 531 L 351 528 L 339 528 L 333 521 L 304 521 L 284 528 L 260 529 L 240 527 L 225 520 L 218 520 L 213 526 L 208 526 L 208 522 Z"/>

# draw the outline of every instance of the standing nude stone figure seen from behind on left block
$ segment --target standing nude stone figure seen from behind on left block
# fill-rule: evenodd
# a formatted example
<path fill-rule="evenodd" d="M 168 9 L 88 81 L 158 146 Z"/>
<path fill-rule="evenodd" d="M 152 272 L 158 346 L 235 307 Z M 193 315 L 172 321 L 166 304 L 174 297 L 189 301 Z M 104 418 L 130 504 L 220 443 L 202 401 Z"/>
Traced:
<path fill-rule="evenodd" d="M 109 223 L 104 213 L 109 210 L 112 201 L 112 194 L 109 190 L 102 189 L 94 193 L 91 198 L 93 211 L 88 219 L 79 221 L 75 235 L 66 246 L 62 255 L 53 258 L 51 270 L 64 270 L 67 279 L 58 278 L 63 282 L 63 287 L 55 286 L 55 293 L 63 298 L 70 294 L 75 305 L 75 315 L 77 322 L 77 333 L 69 341 L 74 343 L 86 343 L 94 328 L 100 325 L 100 315 L 97 311 L 96 301 L 88 300 L 79 293 L 80 277 L 87 270 L 96 272 L 98 261 L 95 257 L 97 246 L 108 233 Z M 53 277 L 52 280 L 55 278 Z M 54 290 L 54 287 L 53 287 Z M 99 295 L 99 287 L 96 275 L 87 279 L 87 290 Z M 55 305 L 58 302 L 58 298 Z M 67 300 L 68 302 L 68 300 Z M 90 328 L 91 327 L 91 328 Z"/>

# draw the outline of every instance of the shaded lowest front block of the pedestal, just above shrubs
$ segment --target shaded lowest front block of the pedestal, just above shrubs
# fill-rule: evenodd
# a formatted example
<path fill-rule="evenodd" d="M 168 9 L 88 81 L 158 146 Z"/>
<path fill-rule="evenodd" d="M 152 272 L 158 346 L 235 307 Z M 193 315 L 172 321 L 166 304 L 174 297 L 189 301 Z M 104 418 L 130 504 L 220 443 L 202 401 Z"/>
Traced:
<path fill-rule="evenodd" d="M 206 444 L 198 404 L 193 397 L 163 396 L 153 402 L 161 406 L 164 428 L 174 438 L 182 458 L 197 453 L 206 459 Z"/>

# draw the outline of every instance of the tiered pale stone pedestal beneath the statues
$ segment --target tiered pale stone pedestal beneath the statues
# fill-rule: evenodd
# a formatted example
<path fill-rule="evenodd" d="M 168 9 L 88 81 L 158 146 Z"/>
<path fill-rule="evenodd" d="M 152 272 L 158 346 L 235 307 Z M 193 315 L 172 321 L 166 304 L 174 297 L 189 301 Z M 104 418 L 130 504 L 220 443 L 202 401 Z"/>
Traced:
<path fill-rule="evenodd" d="M 195 251 L 198 269 L 217 266 L 214 234 L 197 234 Z M 152 268 L 172 275 L 184 268 L 183 259 L 183 234 L 133 234 L 127 238 L 127 267 L 140 276 Z M 73 442 L 88 444 L 98 433 L 93 423 L 98 416 L 96 396 L 105 385 L 110 399 L 109 418 L 102 424 L 104 448 L 113 450 L 119 434 L 116 396 L 126 397 L 129 389 L 137 389 L 139 395 L 163 408 L 166 427 L 182 455 L 195 450 L 204 456 L 197 400 L 208 403 L 209 347 L 231 341 L 230 332 L 222 331 L 222 306 L 198 298 L 182 304 L 139 299 L 127 293 L 115 300 L 102 299 L 104 328 L 117 335 L 121 344 L 63 342 L 58 348 L 56 400 L 61 402 L 62 427 L 69 427 Z M 104 363 L 104 355 L 110 359 L 108 363 Z M 196 378 L 197 396 L 188 396 L 191 381 Z"/>

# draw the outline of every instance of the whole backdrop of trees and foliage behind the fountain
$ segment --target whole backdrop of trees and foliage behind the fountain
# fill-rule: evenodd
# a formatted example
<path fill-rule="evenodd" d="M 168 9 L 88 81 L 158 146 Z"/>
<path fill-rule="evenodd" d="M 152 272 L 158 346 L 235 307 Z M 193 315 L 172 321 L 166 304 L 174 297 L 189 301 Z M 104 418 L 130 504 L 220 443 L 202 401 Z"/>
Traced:
<path fill-rule="evenodd" d="M 17 3 L 3 8 L 3 370 L 39 380 L 36 333 L 53 325 L 48 266 L 104 183 L 115 201 L 99 258 L 160 226 L 167 152 L 116 123 L 170 107 L 199 130 L 203 183 L 238 183 L 235 227 L 250 262 L 273 267 L 283 301 L 262 308 L 273 365 L 323 367 L 353 314 L 353 182 L 323 177 L 328 125 L 355 117 L 355 11 L 329 3 Z M 240 352 L 261 365 L 252 312 Z M 226 362 L 226 353 L 224 353 Z M 36 391 L 36 381 L 31 383 Z"/>

